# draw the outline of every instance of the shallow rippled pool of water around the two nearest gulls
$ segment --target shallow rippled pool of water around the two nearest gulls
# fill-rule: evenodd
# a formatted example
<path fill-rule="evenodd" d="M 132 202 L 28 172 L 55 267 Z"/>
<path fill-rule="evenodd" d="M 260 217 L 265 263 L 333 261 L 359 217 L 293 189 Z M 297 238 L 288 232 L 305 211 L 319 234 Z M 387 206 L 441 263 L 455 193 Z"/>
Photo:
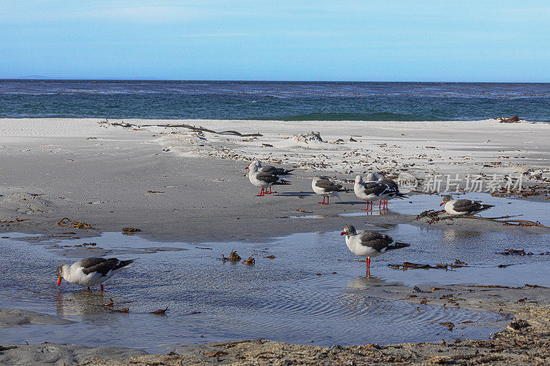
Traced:
<path fill-rule="evenodd" d="M 433 198 L 424 199 L 431 205 Z M 417 202 L 415 212 L 423 204 L 428 202 Z M 411 204 L 391 203 L 391 207 L 397 205 Z M 422 283 L 550 286 L 550 255 L 495 253 L 514 247 L 538 254 L 547 250 L 550 233 L 478 233 L 412 225 L 364 228 L 384 231 L 412 246 L 375 258 L 372 276 L 366 278 L 365 263 L 347 249 L 339 231 L 297 233 L 269 244 L 152 242 L 121 233 L 85 240 L 33 240 L 36 238 L 4 233 L 2 236 L 10 239 L 0 239 L 0 307 L 57 314 L 78 323 L 10 328 L 0 334 L 4 342 L 109 344 L 142 347 L 149 352 L 164 352 L 162 346 L 170 343 L 259 337 L 314 345 L 483 338 L 498 330 L 494 324 L 505 319 L 489 312 L 430 305 L 418 310 L 416 304 L 371 297 L 369 289 Z M 63 247 L 83 242 L 97 245 L 89 249 Z M 254 255 L 256 265 L 219 260 L 232 249 L 243 259 Z M 139 259 L 110 279 L 104 294 L 67 282 L 56 287 L 59 263 L 106 252 Z M 275 258 L 268 259 L 268 255 Z M 388 267 L 405 261 L 437 264 L 456 259 L 470 267 L 454 271 Z M 498 268 L 498 264 L 510 266 Z M 130 312 L 102 307 L 109 298 L 115 308 L 129 308 Z M 166 306 L 170 309 L 166 316 L 148 313 Z M 456 324 L 453 332 L 439 324 L 445 321 Z M 465 326 L 470 321 L 478 325 Z"/>

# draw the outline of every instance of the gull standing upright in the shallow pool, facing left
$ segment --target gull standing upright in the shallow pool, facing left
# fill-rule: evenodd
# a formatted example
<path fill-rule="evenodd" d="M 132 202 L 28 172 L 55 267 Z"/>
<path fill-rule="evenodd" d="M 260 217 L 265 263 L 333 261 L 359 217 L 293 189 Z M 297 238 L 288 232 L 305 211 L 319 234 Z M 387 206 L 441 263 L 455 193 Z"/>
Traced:
<path fill-rule="evenodd" d="M 391 236 L 377 233 L 376 231 L 356 231 L 353 225 L 346 225 L 340 235 L 346 236 L 346 245 L 351 253 L 366 257 L 366 272 L 370 274 L 371 258 L 394 249 L 409 247 L 410 244 L 393 243 Z"/>

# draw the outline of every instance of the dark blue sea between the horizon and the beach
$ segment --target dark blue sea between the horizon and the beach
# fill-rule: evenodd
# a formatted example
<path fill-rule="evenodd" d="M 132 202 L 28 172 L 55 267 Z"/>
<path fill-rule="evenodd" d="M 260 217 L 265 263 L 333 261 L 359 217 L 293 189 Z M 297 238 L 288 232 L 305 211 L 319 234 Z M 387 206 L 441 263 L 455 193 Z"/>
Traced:
<path fill-rule="evenodd" d="M 550 122 L 550 84 L 0 80 L 0 117 Z"/>

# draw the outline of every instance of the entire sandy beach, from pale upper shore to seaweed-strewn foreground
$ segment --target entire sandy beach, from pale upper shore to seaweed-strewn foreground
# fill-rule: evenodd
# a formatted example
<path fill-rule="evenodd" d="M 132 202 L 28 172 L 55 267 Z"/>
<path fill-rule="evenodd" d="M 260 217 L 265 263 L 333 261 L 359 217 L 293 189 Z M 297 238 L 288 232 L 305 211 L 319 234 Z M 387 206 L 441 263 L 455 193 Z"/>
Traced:
<path fill-rule="evenodd" d="M 550 124 L 505 124 L 496 119 L 338 122 L 338 128 L 334 128 L 334 124 L 322 121 L 293 124 L 230 120 L 0 119 L 0 231 L 43 234 L 44 239 L 39 240 L 56 236 L 69 240 L 135 227 L 141 230 L 136 234 L 139 238 L 192 243 L 271 242 L 292 233 L 339 231 L 348 223 L 356 227 L 413 225 L 426 232 L 451 229 L 452 233 L 465 232 L 466 236 L 481 232 L 525 238 L 548 233 L 541 227 L 510 227 L 481 220 L 428 223 L 426 218 L 416 218 L 425 209 L 440 208 L 438 203 L 431 206 L 437 197 L 430 198 L 432 194 L 422 192 L 426 177 L 433 174 L 461 177 L 481 174 L 486 181 L 492 174 L 521 176 L 526 187 L 542 187 L 540 195 L 529 198 L 541 205 L 537 207 L 545 209 Z M 253 159 L 294 169 L 289 176 L 292 184 L 274 187 L 278 193 L 271 196 L 254 196 L 259 189 L 245 176 L 245 167 Z M 331 201 L 330 205 L 317 203 L 320 196 L 311 190 L 313 176 L 336 176 L 337 181 L 352 188 L 355 175 L 369 171 L 394 177 L 412 174 L 423 181 L 423 185 L 416 187 L 416 192 L 410 192 L 406 200 L 390 201 L 388 212 L 375 210 L 372 215 L 360 214 L 365 204 L 353 192 L 342 193 L 342 200 Z M 432 200 L 430 205 L 425 203 L 428 198 Z M 521 207 L 527 201 L 507 202 L 513 203 L 511 207 L 516 207 L 516 203 Z M 525 214 L 531 214 L 531 220 L 541 220 L 548 225 L 546 212 Z M 294 219 L 300 216 L 303 218 Z M 57 225 L 62 218 L 85 222 L 94 229 Z M 84 252 L 71 255 L 79 254 Z M 54 270 L 52 268 L 52 273 Z M 364 292 L 365 288 L 355 290 Z M 550 341 L 545 331 L 550 321 L 547 287 L 424 284 L 420 287 L 374 286 L 367 290 L 371 297 L 419 306 L 432 304 L 503 316 L 510 314 L 509 321 L 527 319 L 529 326 L 504 330 L 490 339 L 461 340 L 453 344 L 327 348 L 256 340 L 174 346 L 173 354 L 159 356 L 122 348 L 97 350 L 58 343 L 6 343 L 0 348 L 0 362 L 291 365 L 353 361 L 358 365 L 375 362 L 527 365 L 547 362 L 550 356 L 544 349 Z M 0 324 L 5 321 L 6 327 L 30 324 L 56 327 L 55 324 L 67 321 L 47 319 L 47 314 L 26 313 L 18 315 L 19 321 L 9 323 L 5 319 L 10 319 L 10 314 L 2 317 Z M 57 356 L 41 358 L 44 347 L 49 347 L 48 352 Z"/>

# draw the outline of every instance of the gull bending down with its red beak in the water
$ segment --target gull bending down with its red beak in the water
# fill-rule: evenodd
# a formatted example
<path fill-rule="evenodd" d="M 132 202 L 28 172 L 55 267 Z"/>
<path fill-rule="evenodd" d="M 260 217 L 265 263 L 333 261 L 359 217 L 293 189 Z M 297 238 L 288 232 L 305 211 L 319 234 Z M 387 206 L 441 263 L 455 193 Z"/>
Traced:
<path fill-rule="evenodd" d="M 61 279 L 87 287 L 100 285 L 103 291 L 103 282 L 111 278 L 115 273 L 134 260 L 118 260 L 116 258 L 86 258 L 75 262 L 71 266 L 63 263 L 57 266 L 57 286 L 61 285 Z"/>

